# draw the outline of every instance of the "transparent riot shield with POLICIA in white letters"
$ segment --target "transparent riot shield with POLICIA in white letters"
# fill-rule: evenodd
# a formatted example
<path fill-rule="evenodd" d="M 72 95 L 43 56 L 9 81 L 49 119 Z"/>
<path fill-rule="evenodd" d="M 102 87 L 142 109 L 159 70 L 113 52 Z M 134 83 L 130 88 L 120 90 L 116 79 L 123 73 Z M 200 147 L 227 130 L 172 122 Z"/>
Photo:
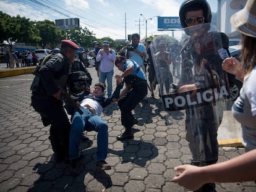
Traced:
<path fill-rule="evenodd" d="M 214 25 L 205 23 L 158 36 L 150 44 L 166 124 L 174 127 L 174 113 L 183 114 L 176 119 L 177 125 L 186 127 L 181 131 L 186 131 L 195 164 L 218 160 L 218 128 L 224 111 L 230 112 L 228 76 L 221 68 L 229 57 L 224 37 Z M 232 131 L 238 138 L 236 130 Z"/>

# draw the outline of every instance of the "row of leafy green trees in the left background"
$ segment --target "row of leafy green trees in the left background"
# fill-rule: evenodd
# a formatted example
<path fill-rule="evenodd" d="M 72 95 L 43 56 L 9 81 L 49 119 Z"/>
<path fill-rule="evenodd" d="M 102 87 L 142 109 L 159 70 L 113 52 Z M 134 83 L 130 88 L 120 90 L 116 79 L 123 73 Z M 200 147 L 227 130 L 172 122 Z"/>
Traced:
<path fill-rule="evenodd" d="M 53 21 L 31 21 L 20 15 L 11 17 L 2 11 L 0 11 L 0 18 L 0 42 L 6 40 L 10 46 L 12 43 L 25 43 L 37 48 L 54 49 L 60 46 L 61 40 L 68 39 L 84 49 L 92 49 L 93 41 L 98 41 L 102 46 L 103 41 L 108 40 L 110 47 L 119 51 L 120 45 L 123 44 L 109 37 L 97 40 L 95 34 L 87 27 L 58 30 Z"/>

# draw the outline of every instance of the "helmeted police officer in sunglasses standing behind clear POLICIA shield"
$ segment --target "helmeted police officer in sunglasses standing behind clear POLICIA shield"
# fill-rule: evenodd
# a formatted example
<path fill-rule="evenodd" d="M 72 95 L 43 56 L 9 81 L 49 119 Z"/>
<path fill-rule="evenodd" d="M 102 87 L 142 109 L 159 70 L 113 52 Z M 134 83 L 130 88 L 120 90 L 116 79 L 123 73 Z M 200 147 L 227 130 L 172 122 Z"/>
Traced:
<path fill-rule="evenodd" d="M 184 41 L 181 49 L 182 73 L 178 92 L 192 91 L 190 98 L 196 99 L 195 93 L 199 95 L 205 90 L 217 90 L 220 83 L 224 83 L 221 62 L 228 57 L 228 51 L 221 46 L 221 38 L 225 35 L 216 31 L 208 32 L 211 9 L 206 0 L 184 1 L 179 9 L 179 18 L 182 28 L 189 27 L 184 31 L 190 37 Z M 215 46 L 218 53 L 214 51 Z M 205 105 L 186 109 L 186 139 L 193 165 L 204 166 L 218 161 L 217 130 L 223 115 L 223 111 L 215 111 L 218 102 L 221 101 L 215 99 Z M 198 191 L 215 191 L 215 183 L 207 183 Z"/>

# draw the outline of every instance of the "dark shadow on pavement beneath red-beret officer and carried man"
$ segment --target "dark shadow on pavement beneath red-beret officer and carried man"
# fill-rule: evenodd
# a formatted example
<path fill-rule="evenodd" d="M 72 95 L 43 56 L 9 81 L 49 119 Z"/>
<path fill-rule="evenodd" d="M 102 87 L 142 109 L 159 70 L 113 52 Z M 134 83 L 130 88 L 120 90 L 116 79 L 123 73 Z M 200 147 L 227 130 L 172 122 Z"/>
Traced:
<path fill-rule="evenodd" d="M 40 175 L 40 178 L 34 182 L 29 191 L 87 191 L 87 186 L 84 185 L 85 180 L 97 180 L 101 183 L 103 190 L 112 186 L 110 176 L 104 171 L 96 170 L 96 161 L 93 156 L 96 155 L 96 148 L 90 148 L 92 141 L 82 142 L 82 148 L 85 157 L 79 161 L 80 173 L 77 176 L 70 174 L 70 165 L 61 162 L 56 164 L 54 162 L 54 155 L 51 156 L 49 162 L 40 164 L 37 163 L 33 170 Z M 88 150 L 85 150 L 90 148 Z M 93 186 L 89 186 L 90 189 Z"/>

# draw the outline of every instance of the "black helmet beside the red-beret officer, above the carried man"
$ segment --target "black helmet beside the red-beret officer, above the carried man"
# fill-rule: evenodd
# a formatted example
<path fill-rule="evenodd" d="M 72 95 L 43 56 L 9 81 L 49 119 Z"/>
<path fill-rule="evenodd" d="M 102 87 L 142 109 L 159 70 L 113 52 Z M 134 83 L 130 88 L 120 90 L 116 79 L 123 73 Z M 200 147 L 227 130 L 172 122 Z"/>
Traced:
<path fill-rule="evenodd" d="M 72 98 L 78 98 L 85 92 L 87 75 L 83 71 L 76 71 L 69 74 L 68 86 Z"/>

